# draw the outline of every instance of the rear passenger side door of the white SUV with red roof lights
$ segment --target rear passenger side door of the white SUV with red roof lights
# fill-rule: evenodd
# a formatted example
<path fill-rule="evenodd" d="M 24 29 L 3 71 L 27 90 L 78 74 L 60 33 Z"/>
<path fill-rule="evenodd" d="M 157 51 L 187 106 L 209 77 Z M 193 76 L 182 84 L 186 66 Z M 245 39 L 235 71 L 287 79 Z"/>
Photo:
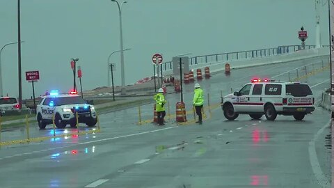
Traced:
<path fill-rule="evenodd" d="M 248 111 L 250 112 L 260 112 L 263 111 L 263 100 L 262 100 L 262 89 L 263 84 L 254 84 L 253 90 L 251 91 L 249 96 L 249 103 L 251 109 L 249 108 Z"/>

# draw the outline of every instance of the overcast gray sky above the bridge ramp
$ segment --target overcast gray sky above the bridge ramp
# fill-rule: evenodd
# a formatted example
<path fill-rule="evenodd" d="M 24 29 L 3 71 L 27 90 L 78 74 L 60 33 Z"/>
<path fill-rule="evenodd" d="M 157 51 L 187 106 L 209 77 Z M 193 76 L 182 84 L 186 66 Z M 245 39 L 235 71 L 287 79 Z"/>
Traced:
<path fill-rule="evenodd" d="M 40 71 L 36 95 L 69 91 L 70 58 L 79 58 L 84 90 L 106 86 L 106 61 L 120 49 L 118 9 L 110 0 L 21 0 L 22 73 Z M 321 8 L 321 39 L 328 44 L 328 6 Z M 122 9 L 126 84 L 152 75 L 152 54 L 164 61 L 248 49 L 315 44 L 314 0 L 129 0 Z M 17 1 L 0 0 L 0 46 L 17 41 Z M 17 45 L 2 53 L 3 91 L 17 96 Z M 120 85 L 120 54 L 114 54 Z M 23 80 L 23 96 L 31 84 Z"/>

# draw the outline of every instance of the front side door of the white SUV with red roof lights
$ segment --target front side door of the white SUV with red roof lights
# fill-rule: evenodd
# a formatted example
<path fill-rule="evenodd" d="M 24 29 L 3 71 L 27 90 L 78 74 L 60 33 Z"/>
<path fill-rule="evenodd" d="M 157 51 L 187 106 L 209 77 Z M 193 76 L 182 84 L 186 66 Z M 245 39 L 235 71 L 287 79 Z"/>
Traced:
<path fill-rule="evenodd" d="M 233 102 L 234 110 L 235 111 L 247 111 L 248 110 L 248 99 L 249 99 L 249 92 L 252 84 L 247 84 L 239 91 L 239 96 L 236 97 L 235 102 Z"/>

